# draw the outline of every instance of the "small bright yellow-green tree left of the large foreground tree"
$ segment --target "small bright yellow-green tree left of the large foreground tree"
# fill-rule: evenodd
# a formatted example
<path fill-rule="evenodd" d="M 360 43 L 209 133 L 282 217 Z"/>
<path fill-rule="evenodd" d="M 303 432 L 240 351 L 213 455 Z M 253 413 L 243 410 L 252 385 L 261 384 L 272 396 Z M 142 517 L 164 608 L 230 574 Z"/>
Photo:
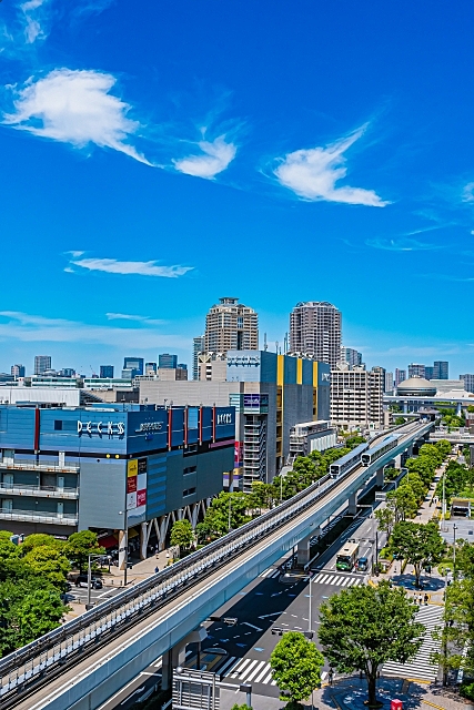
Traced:
<path fill-rule="evenodd" d="M 303 633 L 290 631 L 276 643 L 270 656 L 273 680 L 280 690 L 290 693 L 290 700 L 299 702 L 307 698 L 321 682 L 324 658 Z M 288 699 L 281 696 L 280 700 Z"/>

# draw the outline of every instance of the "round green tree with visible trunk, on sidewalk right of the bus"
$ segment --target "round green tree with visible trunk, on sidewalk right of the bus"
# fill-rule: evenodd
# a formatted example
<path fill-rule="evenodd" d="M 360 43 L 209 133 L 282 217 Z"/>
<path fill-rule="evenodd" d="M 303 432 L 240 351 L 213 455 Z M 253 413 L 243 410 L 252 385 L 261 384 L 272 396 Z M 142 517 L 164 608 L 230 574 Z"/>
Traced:
<path fill-rule="evenodd" d="M 435 523 L 411 523 L 402 520 L 392 531 L 390 549 L 399 558 L 413 565 L 415 586 L 420 587 L 422 568 L 438 562 L 445 549 L 445 542 Z"/>

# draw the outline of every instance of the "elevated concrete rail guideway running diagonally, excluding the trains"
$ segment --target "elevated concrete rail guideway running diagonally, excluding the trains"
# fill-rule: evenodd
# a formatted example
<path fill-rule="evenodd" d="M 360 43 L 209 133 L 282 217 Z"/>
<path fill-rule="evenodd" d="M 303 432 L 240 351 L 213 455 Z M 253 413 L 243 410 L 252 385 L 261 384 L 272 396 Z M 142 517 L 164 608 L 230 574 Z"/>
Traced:
<path fill-rule="evenodd" d="M 311 535 L 377 468 L 431 426 L 399 427 L 397 446 L 372 466 L 357 467 L 341 479 L 325 476 L 239 530 L 6 657 L 0 661 L 0 707 L 98 708 Z"/>

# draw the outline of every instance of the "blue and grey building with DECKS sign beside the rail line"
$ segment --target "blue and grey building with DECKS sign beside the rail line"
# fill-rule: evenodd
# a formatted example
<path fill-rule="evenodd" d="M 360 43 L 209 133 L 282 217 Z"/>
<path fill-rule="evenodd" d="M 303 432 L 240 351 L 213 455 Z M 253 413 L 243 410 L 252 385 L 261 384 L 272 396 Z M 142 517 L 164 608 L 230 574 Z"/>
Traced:
<path fill-rule="evenodd" d="M 222 489 L 234 432 L 232 407 L 0 405 L 1 527 L 91 529 L 105 547 L 128 528 L 145 557 L 173 519 L 194 527 Z"/>

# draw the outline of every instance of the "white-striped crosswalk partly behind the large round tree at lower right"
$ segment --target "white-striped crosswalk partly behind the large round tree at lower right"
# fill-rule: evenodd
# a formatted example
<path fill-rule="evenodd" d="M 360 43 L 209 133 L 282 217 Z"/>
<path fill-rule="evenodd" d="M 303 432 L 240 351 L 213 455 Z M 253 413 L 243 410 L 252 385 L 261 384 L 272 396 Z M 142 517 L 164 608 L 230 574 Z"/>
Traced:
<path fill-rule="evenodd" d="M 420 680 L 435 680 L 437 676 L 437 663 L 430 661 L 433 651 L 440 650 L 440 645 L 434 641 L 432 631 L 442 626 L 443 607 L 422 607 L 416 615 L 416 621 L 423 623 L 426 632 L 423 643 L 415 658 L 410 663 L 389 662 L 383 666 L 384 676 L 397 676 L 399 678 L 415 678 Z"/>

